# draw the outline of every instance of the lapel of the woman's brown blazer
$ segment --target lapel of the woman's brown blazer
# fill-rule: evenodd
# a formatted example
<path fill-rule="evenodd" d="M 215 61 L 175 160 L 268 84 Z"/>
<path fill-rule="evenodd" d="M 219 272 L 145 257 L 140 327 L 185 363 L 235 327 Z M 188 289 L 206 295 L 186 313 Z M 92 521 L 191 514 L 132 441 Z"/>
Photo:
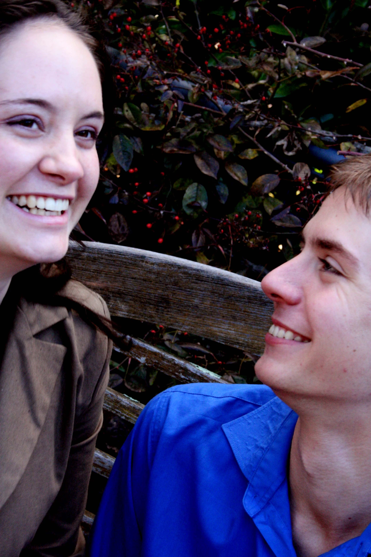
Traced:
<path fill-rule="evenodd" d="M 0 509 L 32 455 L 67 351 L 34 335 L 67 316 L 65 307 L 17 307 L 0 367 Z"/>

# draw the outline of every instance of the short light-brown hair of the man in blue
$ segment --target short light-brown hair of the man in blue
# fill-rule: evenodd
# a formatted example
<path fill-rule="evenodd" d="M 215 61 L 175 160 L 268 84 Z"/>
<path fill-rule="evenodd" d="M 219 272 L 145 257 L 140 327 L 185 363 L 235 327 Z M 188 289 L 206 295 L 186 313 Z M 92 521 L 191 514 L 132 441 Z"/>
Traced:
<path fill-rule="evenodd" d="M 335 164 L 330 174 L 329 193 L 345 186 L 353 202 L 369 214 L 371 208 L 371 154 L 349 157 Z"/>

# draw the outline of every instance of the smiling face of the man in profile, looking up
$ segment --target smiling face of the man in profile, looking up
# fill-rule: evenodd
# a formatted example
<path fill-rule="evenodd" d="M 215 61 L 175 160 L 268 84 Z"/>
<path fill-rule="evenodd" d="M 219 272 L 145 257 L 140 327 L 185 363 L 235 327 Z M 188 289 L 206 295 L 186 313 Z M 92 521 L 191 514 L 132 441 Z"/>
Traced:
<path fill-rule="evenodd" d="M 261 285 L 278 329 L 258 378 L 280 396 L 371 400 L 371 217 L 345 203 L 344 188 L 306 225 L 303 251 Z"/>

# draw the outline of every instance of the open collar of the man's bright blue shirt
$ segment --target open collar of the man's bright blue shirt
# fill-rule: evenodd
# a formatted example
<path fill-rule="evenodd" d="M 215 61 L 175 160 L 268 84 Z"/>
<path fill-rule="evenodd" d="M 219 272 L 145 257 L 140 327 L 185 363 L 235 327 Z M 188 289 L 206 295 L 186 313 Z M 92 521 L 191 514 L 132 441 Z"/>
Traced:
<path fill-rule="evenodd" d="M 278 397 L 222 429 L 249 485 L 244 508 L 264 539 L 281 557 L 296 557 L 292 542 L 287 467 L 298 415 Z M 362 535 L 321 557 L 367 557 L 371 524 Z"/>

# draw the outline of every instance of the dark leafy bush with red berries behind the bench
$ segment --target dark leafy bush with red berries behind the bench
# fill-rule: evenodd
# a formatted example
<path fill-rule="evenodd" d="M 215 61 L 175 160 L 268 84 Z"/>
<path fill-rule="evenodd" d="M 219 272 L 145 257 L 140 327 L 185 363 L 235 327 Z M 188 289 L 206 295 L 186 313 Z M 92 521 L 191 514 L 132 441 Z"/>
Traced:
<path fill-rule="evenodd" d="M 329 165 L 371 152 L 371 9 L 369 0 L 283 1 L 71 4 L 101 29 L 117 90 L 77 238 L 257 280 L 293 257 Z M 246 354 L 159 324 L 123 325 L 231 382 L 254 380 Z M 113 354 L 117 390 L 147 402 L 172 384 L 122 360 Z M 101 447 L 114 455 L 126 430 L 106 417 Z"/>

